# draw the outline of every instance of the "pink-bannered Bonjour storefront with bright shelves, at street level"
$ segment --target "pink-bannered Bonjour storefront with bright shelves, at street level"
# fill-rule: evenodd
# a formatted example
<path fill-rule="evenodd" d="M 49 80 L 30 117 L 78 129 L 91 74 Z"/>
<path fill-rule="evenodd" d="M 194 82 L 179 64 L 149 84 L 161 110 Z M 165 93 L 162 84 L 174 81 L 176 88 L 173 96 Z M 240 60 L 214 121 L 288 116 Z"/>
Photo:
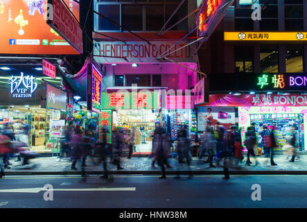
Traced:
<path fill-rule="evenodd" d="M 258 142 L 259 133 L 266 124 L 274 130 L 277 139 L 277 150 L 281 150 L 286 142 L 286 135 L 296 134 L 296 144 L 300 151 L 307 151 L 307 96 L 301 94 L 215 94 L 210 95 L 206 108 L 233 107 L 238 108 L 238 126 L 242 130 L 243 141 L 247 127 L 256 123 Z M 200 121 L 200 119 L 198 119 Z M 200 124 L 200 122 L 198 123 Z"/>

